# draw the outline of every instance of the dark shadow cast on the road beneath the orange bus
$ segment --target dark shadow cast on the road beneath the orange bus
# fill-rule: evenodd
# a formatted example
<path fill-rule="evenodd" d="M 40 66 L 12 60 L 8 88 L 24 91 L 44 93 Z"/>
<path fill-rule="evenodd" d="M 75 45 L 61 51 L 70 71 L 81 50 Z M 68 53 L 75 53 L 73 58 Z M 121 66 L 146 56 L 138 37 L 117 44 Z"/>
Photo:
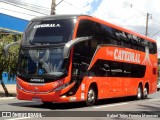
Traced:
<path fill-rule="evenodd" d="M 108 105 L 108 104 L 114 104 L 114 103 L 122 103 L 122 102 L 128 102 L 128 101 L 129 102 L 135 101 L 135 98 L 125 97 L 125 98 L 103 99 L 103 100 L 99 100 L 96 106 L 106 105 L 106 104 Z M 52 103 L 52 104 L 45 105 L 42 102 L 22 102 L 21 101 L 19 103 L 10 103 L 9 105 L 18 106 L 18 107 L 28 107 L 28 108 L 42 108 L 42 109 L 50 109 L 50 110 L 66 110 L 66 109 L 72 110 L 72 109 L 87 107 L 85 102 Z"/>

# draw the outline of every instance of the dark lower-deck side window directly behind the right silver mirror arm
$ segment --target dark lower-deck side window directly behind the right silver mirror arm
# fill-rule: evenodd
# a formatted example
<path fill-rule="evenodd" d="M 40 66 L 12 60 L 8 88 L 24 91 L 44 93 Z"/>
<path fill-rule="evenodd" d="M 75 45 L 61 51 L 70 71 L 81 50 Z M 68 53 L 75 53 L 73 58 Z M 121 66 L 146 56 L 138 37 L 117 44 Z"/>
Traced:
<path fill-rule="evenodd" d="M 88 74 L 87 68 L 92 56 L 92 48 L 89 41 L 84 41 L 74 46 L 72 74 L 76 73 L 77 79 L 82 79 L 84 75 Z"/>

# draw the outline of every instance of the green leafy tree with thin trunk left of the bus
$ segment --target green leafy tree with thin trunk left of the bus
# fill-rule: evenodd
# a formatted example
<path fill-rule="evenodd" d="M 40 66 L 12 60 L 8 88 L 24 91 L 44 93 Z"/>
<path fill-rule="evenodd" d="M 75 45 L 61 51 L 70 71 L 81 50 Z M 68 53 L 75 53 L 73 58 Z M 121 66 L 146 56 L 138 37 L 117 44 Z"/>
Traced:
<path fill-rule="evenodd" d="M 1 35 L 0 36 L 0 82 L 2 85 L 2 88 L 4 89 L 5 95 L 8 96 L 9 92 L 4 84 L 4 81 L 2 79 L 2 73 L 4 71 L 8 72 L 8 79 L 14 78 L 17 72 L 17 59 L 18 59 L 18 51 L 19 51 L 19 46 L 13 46 L 9 49 L 8 56 L 5 57 L 3 54 L 3 48 L 5 45 L 15 42 L 17 40 L 21 39 L 21 35 Z"/>

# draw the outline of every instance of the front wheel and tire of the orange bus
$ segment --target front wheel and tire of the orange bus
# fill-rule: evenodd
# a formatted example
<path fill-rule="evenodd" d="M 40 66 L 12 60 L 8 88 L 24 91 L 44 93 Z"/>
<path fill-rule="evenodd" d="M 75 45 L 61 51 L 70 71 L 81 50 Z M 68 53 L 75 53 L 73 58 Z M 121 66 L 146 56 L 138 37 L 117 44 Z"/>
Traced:
<path fill-rule="evenodd" d="M 87 93 L 86 104 L 87 106 L 92 106 L 96 104 L 96 102 L 97 102 L 97 91 L 95 87 L 91 86 L 89 87 L 89 90 Z"/>

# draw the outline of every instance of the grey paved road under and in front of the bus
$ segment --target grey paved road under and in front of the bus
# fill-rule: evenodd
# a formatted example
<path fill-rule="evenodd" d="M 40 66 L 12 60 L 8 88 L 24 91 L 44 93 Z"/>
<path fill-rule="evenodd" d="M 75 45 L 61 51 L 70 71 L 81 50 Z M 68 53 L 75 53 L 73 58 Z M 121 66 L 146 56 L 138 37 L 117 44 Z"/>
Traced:
<path fill-rule="evenodd" d="M 85 103 L 68 103 L 68 104 L 52 104 L 50 106 L 44 106 L 41 102 L 30 102 L 30 101 L 19 101 L 16 98 L 0 98 L 0 111 L 13 111 L 15 114 L 14 117 L 1 117 L 2 120 L 63 120 L 63 119 L 158 119 L 157 114 L 160 113 L 160 92 L 156 92 L 152 95 L 149 95 L 148 99 L 145 100 L 134 100 L 132 97 L 130 98 L 119 98 L 119 99 L 107 99 L 99 101 L 99 104 L 92 107 L 86 107 Z M 17 112 L 16 112 L 17 111 Z M 55 116 L 59 115 L 62 117 L 42 117 L 42 118 L 25 118 L 26 113 L 30 111 L 34 111 L 35 115 L 47 115 L 47 116 Z M 45 112 L 48 111 L 48 112 Z M 79 112 L 81 111 L 81 112 Z M 90 111 L 90 112 L 88 112 Z M 97 112 L 96 112 L 97 111 Z M 99 112 L 98 112 L 99 111 Z M 110 111 L 115 111 L 111 112 Z M 118 113 L 118 112 L 120 113 Z M 131 112 L 133 111 L 133 112 Z M 145 112 L 140 112 L 145 111 Z M 154 111 L 154 112 L 151 112 Z M 58 113 L 57 113 L 58 112 Z M 129 112 L 129 113 L 128 113 Z M 151 113 L 150 113 L 151 112 Z M 18 114 L 19 113 L 19 114 Z M 33 113 L 33 112 L 32 112 Z M 70 115 L 71 114 L 71 115 Z M 130 116 L 129 116 L 130 114 Z M 147 117 L 143 116 L 148 115 Z M 150 114 L 154 114 L 154 116 L 149 116 Z M 3 113 L 3 116 L 6 113 Z M 16 115 L 21 116 L 21 118 L 17 118 Z M 79 115 L 79 117 L 64 117 L 64 116 L 74 116 Z M 81 115 L 90 116 L 90 117 L 80 117 Z M 97 116 L 100 117 L 91 117 Z M 118 115 L 118 116 L 117 116 Z M 137 115 L 137 116 L 135 116 Z M 103 116 L 103 117 L 102 117 Z M 108 117 L 107 117 L 108 116 Z M 160 117 L 160 116 L 159 116 Z"/>

